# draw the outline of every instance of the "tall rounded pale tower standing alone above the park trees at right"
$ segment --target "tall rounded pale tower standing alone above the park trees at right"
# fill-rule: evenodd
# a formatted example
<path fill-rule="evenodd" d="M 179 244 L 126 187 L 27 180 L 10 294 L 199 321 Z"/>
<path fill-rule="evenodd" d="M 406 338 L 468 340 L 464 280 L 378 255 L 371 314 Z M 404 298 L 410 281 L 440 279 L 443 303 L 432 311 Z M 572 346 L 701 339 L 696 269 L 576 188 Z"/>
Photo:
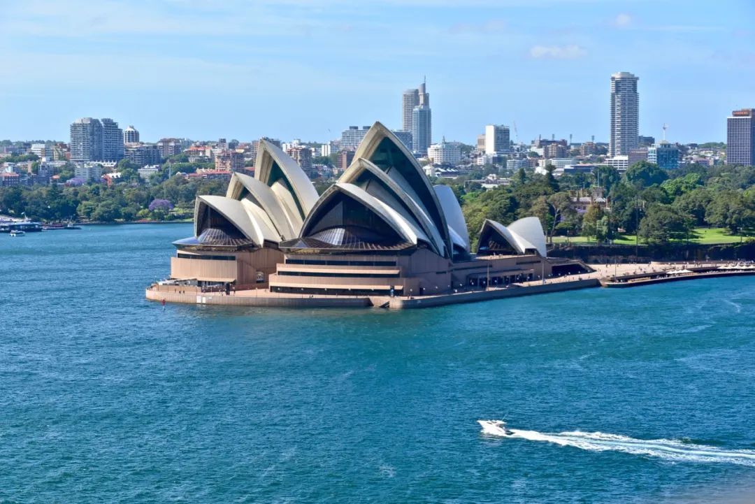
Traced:
<path fill-rule="evenodd" d="M 630 72 L 611 75 L 609 155 L 628 155 L 639 143 L 638 78 Z"/>

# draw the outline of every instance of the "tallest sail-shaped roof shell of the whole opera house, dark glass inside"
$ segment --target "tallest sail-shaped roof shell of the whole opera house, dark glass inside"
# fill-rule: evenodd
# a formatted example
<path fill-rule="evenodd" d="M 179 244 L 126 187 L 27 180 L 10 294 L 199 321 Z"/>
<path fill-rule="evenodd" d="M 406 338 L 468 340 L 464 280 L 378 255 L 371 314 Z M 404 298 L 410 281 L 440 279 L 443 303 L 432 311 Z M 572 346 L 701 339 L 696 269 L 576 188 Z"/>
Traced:
<path fill-rule="evenodd" d="M 445 244 L 442 255 L 450 257 L 451 238 L 438 196 L 417 159 L 408 151 L 404 143 L 383 124 L 375 122 L 365 134 L 362 143 L 359 143 L 354 158 L 371 161 L 389 177 L 396 180 L 405 192 L 410 195 L 414 193 L 413 198 L 421 204 L 442 236 Z"/>

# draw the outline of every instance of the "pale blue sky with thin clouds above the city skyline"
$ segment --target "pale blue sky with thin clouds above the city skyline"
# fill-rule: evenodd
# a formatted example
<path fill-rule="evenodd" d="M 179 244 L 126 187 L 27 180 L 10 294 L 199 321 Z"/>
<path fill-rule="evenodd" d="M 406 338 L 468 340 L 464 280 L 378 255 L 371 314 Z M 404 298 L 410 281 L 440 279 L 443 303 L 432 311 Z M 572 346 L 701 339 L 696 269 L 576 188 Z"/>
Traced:
<path fill-rule="evenodd" d="M 401 128 L 427 78 L 433 141 L 607 141 L 609 79 L 640 134 L 725 141 L 755 107 L 753 0 L 0 0 L 0 139 L 79 117 L 161 137 L 325 141 Z"/>

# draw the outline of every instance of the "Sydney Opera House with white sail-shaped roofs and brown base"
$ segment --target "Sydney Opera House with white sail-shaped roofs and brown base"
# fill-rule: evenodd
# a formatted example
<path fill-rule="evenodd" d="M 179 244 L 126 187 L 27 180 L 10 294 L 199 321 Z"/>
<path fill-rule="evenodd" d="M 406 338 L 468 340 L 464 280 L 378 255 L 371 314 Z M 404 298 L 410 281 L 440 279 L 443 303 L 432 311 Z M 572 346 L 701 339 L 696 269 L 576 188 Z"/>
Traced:
<path fill-rule="evenodd" d="M 260 140 L 254 177 L 233 174 L 225 196 L 197 198 L 194 236 L 174 242 L 171 281 L 284 297 L 421 297 L 574 266 L 547 259 L 537 217 L 487 220 L 478 243 L 471 250 L 451 189 L 433 186 L 378 122 L 322 195 L 292 158 Z"/>

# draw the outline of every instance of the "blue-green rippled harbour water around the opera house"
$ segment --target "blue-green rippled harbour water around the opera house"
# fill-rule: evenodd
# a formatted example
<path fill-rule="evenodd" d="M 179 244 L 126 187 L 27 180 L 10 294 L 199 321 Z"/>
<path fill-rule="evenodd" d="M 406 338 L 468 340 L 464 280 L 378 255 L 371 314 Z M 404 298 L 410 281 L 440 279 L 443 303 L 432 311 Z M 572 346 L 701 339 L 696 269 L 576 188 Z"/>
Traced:
<path fill-rule="evenodd" d="M 143 289 L 186 235 L 0 235 L 0 502 L 750 492 L 753 278 L 407 312 L 163 312 Z M 481 434 L 477 419 L 504 416 L 533 439 L 627 438 Z"/>

